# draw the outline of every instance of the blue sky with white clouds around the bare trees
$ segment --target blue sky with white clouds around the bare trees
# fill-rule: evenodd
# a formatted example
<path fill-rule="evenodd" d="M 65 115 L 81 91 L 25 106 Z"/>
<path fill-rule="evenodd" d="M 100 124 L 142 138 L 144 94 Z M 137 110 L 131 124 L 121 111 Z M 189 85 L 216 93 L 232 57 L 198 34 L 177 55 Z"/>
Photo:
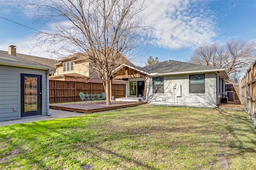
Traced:
<path fill-rule="evenodd" d="M 58 47 L 35 47 L 36 30 L 52 23 L 34 22 L 35 9 L 25 6 L 43 0 L 0 0 L 0 50 L 16 45 L 17 53 L 49 59 Z M 145 66 L 149 56 L 159 61 L 187 62 L 202 45 L 226 41 L 256 41 L 256 0 L 145 0 L 144 25 L 152 28 L 145 53 L 132 60 Z M 5 18 L 5 19 L 4 19 Z M 7 20 L 6 20 L 7 19 Z M 15 23 L 14 23 L 15 22 Z"/>

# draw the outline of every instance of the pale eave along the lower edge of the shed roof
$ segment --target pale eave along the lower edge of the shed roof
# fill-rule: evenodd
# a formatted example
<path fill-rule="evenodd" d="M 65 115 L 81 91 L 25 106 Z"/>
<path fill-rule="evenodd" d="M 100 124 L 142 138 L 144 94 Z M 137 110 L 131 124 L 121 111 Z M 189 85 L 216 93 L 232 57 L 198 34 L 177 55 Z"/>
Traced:
<path fill-rule="evenodd" d="M 49 70 L 49 69 L 51 71 L 56 70 L 55 67 L 27 64 L 27 63 L 16 63 L 16 62 L 12 62 L 12 61 L 1 61 L 1 65 L 17 66 L 17 67 L 24 67 L 24 68 L 34 68 L 34 69 L 40 69 L 40 70 Z"/>

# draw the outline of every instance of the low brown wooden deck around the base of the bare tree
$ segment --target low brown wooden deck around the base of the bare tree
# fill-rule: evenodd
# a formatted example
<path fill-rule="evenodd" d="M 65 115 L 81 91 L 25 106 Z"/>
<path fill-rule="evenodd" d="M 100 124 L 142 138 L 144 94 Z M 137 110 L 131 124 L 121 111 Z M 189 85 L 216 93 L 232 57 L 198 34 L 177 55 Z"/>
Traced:
<path fill-rule="evenodd" d="M 106 102 L 95 103 L 74 103 L 74 104 L 51 104 L 50 109 L 66 110 L 66 111 L 75 111 L 82 113 L 92 113 L 96 111 L 105 111 L 111 109 L 120 109 L 124 107 L 138 106 L 146 104 L 146 102 L 124 102 L 124 101 L 111 101 L 110 105 L 106 105 Z"/>

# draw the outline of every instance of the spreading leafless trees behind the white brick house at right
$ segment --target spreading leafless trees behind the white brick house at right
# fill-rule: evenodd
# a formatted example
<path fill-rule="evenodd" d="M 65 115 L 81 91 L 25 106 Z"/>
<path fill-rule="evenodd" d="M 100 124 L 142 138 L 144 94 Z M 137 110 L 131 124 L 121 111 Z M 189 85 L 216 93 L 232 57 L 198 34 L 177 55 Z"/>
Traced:
<path fill-rule="evenodd" d="M 191 63 L 226 68 L 230 78 L 237 82 L 256 60 L 255 41 L 226 41 L 224 46 L 204 45 L 194 51 Z M 231 75 L 232 74 L 232 75 Z"/>

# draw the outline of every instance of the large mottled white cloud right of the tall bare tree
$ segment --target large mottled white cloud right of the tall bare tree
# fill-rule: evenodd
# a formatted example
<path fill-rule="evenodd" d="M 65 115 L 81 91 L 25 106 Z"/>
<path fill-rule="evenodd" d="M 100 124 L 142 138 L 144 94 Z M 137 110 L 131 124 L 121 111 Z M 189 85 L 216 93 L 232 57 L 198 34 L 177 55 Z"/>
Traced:
<path fill-rule="evenodd" d="M 168 49 L 198 47 L 216 37 L 213 16 L 202 1 L 147 0 L 145 25 L 153 29 L 152 44 Z M 206 9 L 204 9 L 206 8 Z"/>

